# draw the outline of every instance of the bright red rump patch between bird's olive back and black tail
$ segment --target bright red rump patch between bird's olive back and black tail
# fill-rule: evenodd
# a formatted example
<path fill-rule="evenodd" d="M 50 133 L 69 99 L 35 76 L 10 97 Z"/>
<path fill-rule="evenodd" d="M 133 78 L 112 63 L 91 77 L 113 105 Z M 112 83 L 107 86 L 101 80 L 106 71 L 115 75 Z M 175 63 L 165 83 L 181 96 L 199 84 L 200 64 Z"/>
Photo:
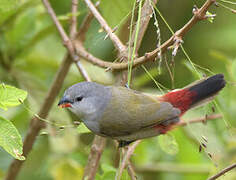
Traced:
<path fill-rule="evenodd" d="M 175 108 L 179 108 L 181 110 L 181 116 L 190 108 L 196 95 L 197 93 L 195 91 L 181 89 L 165 94 L 161 97 L 161 100 L 171 103 Z"/>

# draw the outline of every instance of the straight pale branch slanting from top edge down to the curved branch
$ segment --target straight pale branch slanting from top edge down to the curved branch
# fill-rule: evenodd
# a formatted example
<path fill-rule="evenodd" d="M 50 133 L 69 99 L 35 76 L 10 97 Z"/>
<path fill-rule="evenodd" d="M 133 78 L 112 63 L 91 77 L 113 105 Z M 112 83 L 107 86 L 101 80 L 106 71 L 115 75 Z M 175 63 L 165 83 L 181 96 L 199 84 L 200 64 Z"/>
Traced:
<path fill-rule="evenodd" d="M 90 11 L 93 13 L 94 17 L 98 20 L 102 28 L 107 32 L 108 36 L 110 37 L 111 41 L 113 42 L 116 49 L 119 51 L 120 55 L 126 55 L 126 46 L 120 41 L 120 39 L 113 33 L 113 30 L 107 24 L 105 19 L 101 16 L 98 12 L 96 7 L 90 0 L 84 0 Z M 124 54 L 125 53 L 125 54 Z"/>

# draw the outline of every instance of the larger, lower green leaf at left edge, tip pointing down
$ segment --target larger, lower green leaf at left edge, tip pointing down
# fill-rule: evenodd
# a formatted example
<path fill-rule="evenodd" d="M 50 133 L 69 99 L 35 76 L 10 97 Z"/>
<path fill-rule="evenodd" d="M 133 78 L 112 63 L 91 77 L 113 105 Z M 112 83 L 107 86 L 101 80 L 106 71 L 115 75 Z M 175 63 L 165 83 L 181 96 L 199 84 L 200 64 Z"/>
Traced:
<path fill-rule="evenodd" d="M 21 136 L 15 126 L 0 116 L 0 146 L 18 160 L 25 160 Z"/>

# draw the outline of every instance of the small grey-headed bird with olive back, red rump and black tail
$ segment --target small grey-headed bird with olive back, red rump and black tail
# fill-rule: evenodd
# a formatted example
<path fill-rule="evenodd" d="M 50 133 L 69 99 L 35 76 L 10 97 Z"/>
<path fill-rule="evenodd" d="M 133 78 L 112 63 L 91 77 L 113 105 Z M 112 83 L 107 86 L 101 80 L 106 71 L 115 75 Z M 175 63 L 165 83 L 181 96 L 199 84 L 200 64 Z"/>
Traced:
<path fill-rule="evenodd" d="M 225 84 L 224 76 L 217 74 L 156 96 L 81 82 L 65 91 L 58 106 L 69 108 L 92 132 L 116 139 L 123 147 L 171 130 L 187 110 L 212 100 Z"/>

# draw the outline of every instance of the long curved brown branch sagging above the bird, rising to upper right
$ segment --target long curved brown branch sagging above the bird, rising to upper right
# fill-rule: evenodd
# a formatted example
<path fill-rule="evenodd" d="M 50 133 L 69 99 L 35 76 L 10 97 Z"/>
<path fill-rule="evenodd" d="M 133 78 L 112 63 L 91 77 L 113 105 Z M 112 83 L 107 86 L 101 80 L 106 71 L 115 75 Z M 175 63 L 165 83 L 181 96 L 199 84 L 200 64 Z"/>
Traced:
<path fill-rule="evenodd" d="M 199 21 L 206 18 L 206 11 L 210 8 L 212 4 L 215 3 L 215 0 L 207 0 L 203 6 L 200 9 L 197 9 L 194 11 L 193 17 L 190 19 L 190 21 L 185 24 L 180 30 L 176 31 L 176 33 L 171 36 L 167 41 L 165 41 L 160 47 L 156 48 L 155 50 L 146 53 L 144 56 L 141 56 L 139 58 L 136 58 L 133 63 L 133 67 L 136 67 L 140 64 L 143 64 L 147 61 L 153 60 L 158 52 L 162 52 L 162 54 L 167 50 L 167 48 L 175 42 L 176 39 L 182 39 L 184 35 Z M 94 57 L 92 54 L 87 52 L 80 43 L 76 43 L 76 51 L 78 55 L 88 62 L 103 67 L 103 68 L 110 68 L 112 70 L 124 70 L 127 69 L 128 63 L 111 63 L 103 61 L 99 58 Z"/>

